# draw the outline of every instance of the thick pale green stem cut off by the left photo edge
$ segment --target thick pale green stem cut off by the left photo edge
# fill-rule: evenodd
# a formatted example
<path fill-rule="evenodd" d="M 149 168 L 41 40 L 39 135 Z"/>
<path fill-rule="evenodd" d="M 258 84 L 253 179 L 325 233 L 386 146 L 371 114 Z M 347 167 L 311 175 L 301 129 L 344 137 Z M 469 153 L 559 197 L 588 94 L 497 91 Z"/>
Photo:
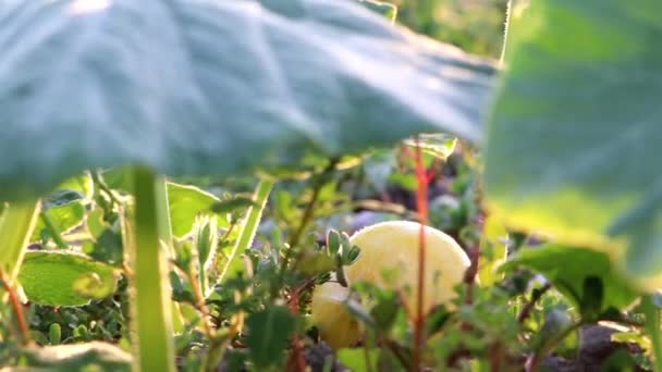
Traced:
<path fill-rule="evenodd" d="M 0 269 L 13 281 L 39 216 L 39 202 L 10 204 L 0 221 Z"/>

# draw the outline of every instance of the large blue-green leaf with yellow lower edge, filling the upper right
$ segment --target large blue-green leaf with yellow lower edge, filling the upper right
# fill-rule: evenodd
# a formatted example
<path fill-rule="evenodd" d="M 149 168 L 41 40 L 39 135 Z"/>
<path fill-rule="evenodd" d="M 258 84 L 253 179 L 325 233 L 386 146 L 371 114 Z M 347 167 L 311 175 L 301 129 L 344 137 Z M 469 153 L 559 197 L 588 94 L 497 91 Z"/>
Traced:
<path fill-rule="evenodd" d="M 487 146 L 492 212 L 662 273 L 662 2 L 540 0 L 515 23 Z M 657 277 L 657 280 L 655 280 Z"/>

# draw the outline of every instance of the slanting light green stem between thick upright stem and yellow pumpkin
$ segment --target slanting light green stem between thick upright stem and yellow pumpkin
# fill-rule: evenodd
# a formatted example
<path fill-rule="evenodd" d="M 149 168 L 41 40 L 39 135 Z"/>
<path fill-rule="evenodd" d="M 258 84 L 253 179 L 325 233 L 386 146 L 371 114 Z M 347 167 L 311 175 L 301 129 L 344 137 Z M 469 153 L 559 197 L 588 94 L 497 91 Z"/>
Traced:
<path fill-rule="evenodd" d="M 255 201 L 255 206 L 248 209 L 244 221 L 240 225 L 240 236 L 237 237 L 232 251 L 228 256 L 225 265 L 223 266 L 221 275 L 218 280 L 219 283 L 222 283 L 229 277 L 235 277 L 240 272 L 244 271 L 244 262 L 241 261 L 240 258 L 253 244 L 255 233 L 260 224 L 262 211 L 265 210 L 265 206 L 267 206 L 267 200 L 269 199 L 269 194 L 273 188 L 273 184 L 274 182 L 271 179 L 261 179 L 258 183 L 255 193 L 253 194 L 253 201 Z"/>

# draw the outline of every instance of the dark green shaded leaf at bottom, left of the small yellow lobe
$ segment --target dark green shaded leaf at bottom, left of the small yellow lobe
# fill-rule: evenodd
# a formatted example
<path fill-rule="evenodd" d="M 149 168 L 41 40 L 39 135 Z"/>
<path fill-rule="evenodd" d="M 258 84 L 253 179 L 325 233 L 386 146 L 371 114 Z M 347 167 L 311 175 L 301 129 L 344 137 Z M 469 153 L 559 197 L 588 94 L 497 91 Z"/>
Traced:
<path fill-rule="evenodd" d="M 246 338 L 250 360 L 258 368 L 278 363 L 295 328 L 295 319 L 285 307 L 272 307 L 253 313 L 247 321 Z"/>

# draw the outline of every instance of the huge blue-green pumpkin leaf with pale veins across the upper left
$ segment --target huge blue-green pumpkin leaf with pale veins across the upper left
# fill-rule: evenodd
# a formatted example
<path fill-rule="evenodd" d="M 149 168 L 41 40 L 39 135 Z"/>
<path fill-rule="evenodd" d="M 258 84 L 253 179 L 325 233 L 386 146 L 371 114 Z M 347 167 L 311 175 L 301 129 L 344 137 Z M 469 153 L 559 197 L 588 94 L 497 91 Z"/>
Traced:
<path fill-rule="evenodd" d="M 420 132 L 477 140 L 493 74 L 350 0 L 2 1 L 0 50 L 10 199 L 90 168 L 224 175 Z"/>

